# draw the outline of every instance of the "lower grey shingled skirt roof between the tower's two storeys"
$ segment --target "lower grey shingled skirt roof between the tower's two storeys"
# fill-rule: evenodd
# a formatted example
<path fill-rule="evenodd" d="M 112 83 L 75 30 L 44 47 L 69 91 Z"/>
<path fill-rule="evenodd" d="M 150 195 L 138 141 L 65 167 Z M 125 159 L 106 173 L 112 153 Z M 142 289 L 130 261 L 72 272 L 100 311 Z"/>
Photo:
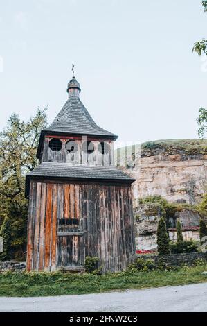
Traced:
<path fill-rule="evenodd" d="M 26 175 L 26 196 L 29 194 L 30 180 L 33 179 L 90 180 L 96 182 L 129 183 L 135 181 L 115 166 L 69 165 L 57 162 L 42 162 Z"/>

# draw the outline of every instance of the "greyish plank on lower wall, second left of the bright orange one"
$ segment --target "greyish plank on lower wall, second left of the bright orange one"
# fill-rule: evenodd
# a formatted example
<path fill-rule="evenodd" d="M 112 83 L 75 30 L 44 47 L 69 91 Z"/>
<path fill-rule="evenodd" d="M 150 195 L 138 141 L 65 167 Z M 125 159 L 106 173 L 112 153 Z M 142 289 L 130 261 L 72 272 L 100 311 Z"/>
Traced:
<path fill-rule="evenodd" d="M 39 266 L 39 221 L 40 221 L 40 203 L 41 203 L 41 183 L 37 182 L 36 189 L 36 209 L 35 209 L 35 230 L 34 230 L 34 253 L 33 253 L 33 271 L 38 271 Z"/>

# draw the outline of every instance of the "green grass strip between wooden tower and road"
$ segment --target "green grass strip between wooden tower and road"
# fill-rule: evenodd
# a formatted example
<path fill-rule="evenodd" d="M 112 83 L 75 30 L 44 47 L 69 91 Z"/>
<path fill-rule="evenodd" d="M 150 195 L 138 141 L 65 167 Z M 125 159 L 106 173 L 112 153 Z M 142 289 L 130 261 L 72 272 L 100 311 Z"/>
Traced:
<path fill-rule="evenodd" d="M 71 295 L 194 284 L 207 282 L 207 276 L 201 274 L 203 271 L 207 271 L 207 264 L 174 271 L 155 270 L 107 275 L 7 272 L 0 274 L 0 296 Z"/>

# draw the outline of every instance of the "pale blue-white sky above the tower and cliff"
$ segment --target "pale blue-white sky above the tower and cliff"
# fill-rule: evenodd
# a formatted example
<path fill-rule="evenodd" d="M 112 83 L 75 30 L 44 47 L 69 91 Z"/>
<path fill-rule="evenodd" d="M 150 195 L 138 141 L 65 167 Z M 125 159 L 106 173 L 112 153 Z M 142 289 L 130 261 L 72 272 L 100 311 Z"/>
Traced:
<path fill-rule="evenodd" d="M 82 102 L 120 141 L 195 138 L 203 37 L 199 0 L 0 0 L 0 129 L 47 104 L 52 121 L 74 62 Z"/>

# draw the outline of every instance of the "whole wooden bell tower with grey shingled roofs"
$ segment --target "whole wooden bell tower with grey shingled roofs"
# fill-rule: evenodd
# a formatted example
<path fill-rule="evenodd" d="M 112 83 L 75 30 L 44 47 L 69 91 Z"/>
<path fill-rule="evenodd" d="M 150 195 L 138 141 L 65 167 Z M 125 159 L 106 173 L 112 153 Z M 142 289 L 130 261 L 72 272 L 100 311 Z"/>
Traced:
<path fill-rule="evenodd" d="M 114 166 L 117 136 L 96 125 L 80 101 L 80 84 L 42 130 L 40 164 L 26 175 L 28 271 L 84 271 L 98 257 L 102 271 L 121 271 L 135 252 L 131 184 Z"/>

